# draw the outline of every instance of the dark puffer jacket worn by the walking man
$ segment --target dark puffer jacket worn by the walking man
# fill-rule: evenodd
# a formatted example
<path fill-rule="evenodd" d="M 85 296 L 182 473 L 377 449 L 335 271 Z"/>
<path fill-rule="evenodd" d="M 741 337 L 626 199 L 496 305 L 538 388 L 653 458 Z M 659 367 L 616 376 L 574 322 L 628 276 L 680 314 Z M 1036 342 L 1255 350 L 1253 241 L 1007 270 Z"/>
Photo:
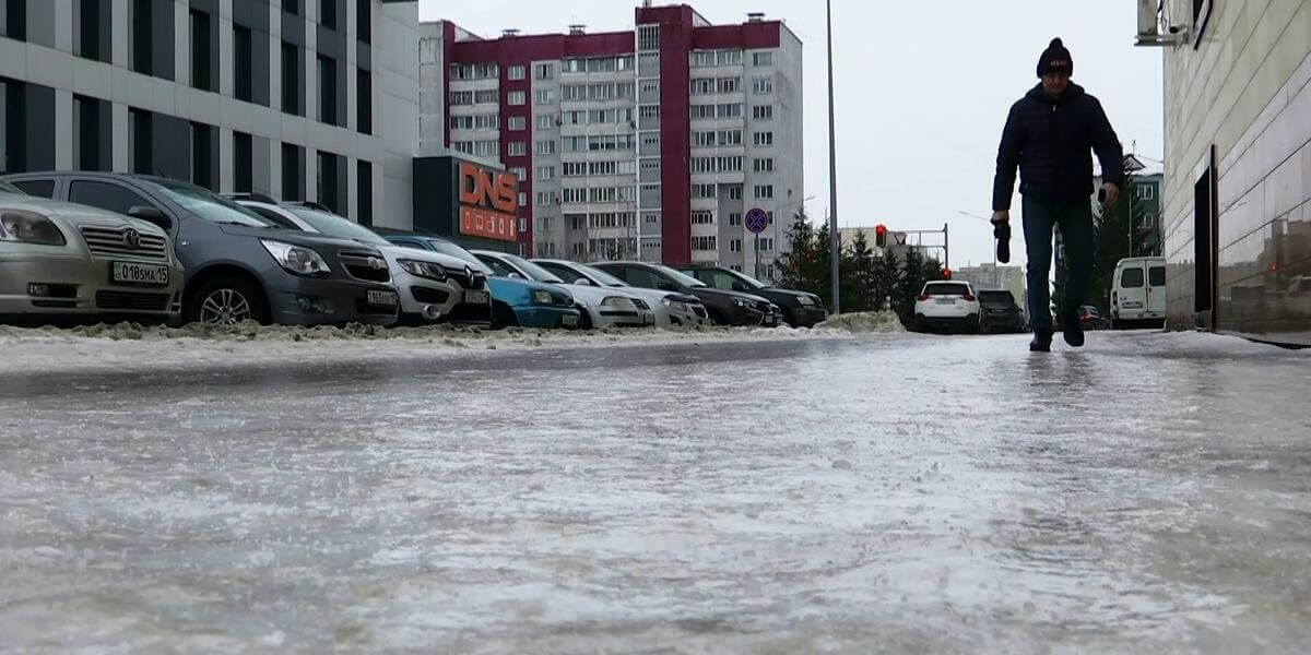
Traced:
<path fill-rule="evenodd" d="M 1092 156 L 1097 152 L 1103 179 L 1124 186 L 1120 139 L 1097 98 L 1071 84 L 1059 98 L 1049 98 L 1038 84 L 1011 106 L 996 153 L 992 211 L 1011 208 L 1015 169 L 1020 193 L 1047 202 L 1091 202 Z"/>

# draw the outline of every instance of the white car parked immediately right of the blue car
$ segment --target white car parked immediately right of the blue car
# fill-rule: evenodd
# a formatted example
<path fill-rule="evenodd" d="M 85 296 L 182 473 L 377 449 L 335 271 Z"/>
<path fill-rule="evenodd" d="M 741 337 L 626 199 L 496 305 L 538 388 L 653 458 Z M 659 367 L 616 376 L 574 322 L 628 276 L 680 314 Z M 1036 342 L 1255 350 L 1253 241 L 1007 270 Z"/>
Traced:
<path fill-rule="evenodd" d="M 564 287 L 573 295 L 574 303 L 578 305 L 579 328 L 590 330 L 611 325 L 620 328 L 656 325 L 656 314 L 650 305 L 635 293 L 611 287 L 570 284 L 519 255 L 490 250 L 472 250 L 472 253 L 498 275 Z"/>

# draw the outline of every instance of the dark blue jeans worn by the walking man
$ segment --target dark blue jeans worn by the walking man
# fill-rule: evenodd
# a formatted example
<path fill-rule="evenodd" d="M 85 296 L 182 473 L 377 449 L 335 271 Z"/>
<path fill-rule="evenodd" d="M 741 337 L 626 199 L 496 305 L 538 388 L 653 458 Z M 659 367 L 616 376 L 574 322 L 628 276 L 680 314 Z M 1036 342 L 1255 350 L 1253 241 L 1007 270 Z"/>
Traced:
<path fill-rule="evenodd" d="M 1029 254 L 1029 325 L 1033 331 L 1051 329 L 1051 236 L 1061 228 L 1070 276 L 1065 280 L 1062 316 L 1072 316 L 1083 304 L 1092 272 L 1092 202 L 1050 203 L 1024 199 L 1024 242 Z"/>

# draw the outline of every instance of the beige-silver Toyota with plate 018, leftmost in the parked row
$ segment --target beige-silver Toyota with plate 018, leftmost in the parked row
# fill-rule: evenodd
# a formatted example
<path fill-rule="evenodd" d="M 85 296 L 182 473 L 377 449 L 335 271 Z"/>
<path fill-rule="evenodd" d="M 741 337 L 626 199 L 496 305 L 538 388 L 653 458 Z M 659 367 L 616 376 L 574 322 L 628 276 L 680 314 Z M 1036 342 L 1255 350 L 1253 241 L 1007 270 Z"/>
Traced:
<path fill-rule="evenodd" d="M 0 182 L 0 316 L 172 322 L 182 278 L 159 227 Z"/>

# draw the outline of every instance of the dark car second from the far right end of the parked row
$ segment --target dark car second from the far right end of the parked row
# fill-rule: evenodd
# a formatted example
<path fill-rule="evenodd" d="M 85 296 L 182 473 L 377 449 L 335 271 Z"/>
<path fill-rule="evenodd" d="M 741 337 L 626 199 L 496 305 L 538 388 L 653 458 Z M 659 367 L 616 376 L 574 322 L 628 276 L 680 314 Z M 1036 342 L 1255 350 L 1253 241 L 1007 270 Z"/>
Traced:
<path fill-rule="evenodd" d="M 635 287 L 696 296 L 705 305 L 709 318 L 720 325 L 773 328 L 779 321 L 779 316 L 773 313 L 773 303 L 753 293 L 711 288 L 669 266 L 644 262 L 603 262 L 594 266 Z"/>

